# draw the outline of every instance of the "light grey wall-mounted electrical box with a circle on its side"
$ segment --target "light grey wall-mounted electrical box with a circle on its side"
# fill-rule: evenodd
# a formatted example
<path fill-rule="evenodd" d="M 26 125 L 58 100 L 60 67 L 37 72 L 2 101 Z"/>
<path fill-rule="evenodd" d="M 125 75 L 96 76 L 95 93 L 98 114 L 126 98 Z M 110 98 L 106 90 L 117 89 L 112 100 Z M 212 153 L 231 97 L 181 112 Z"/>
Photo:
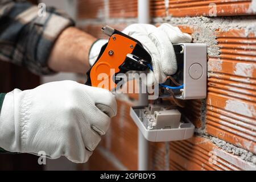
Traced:
<path fill-rule="evenodd" d="M 174 45 L 178 71 L 174 75 L 183 89 L 175 97 L 181 100 L 207 96 L 207 45 L 181 43 Z"/>

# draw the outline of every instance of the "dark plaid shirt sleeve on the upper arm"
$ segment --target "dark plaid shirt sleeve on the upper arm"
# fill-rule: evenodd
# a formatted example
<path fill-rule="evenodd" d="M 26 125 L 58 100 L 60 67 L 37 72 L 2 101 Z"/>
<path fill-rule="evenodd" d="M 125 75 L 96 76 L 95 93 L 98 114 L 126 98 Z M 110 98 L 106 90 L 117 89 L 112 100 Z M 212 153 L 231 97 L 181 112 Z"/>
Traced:
<path fill-rule="evenodd" d="M 0 60 L 22 65 L 37 75 L 54 73 L 47 60 L 59 34 L 75 23 L 64 12 L 26 1 L 0 1 Z M 43 16 L 42 16 L 43 15 Z"/>

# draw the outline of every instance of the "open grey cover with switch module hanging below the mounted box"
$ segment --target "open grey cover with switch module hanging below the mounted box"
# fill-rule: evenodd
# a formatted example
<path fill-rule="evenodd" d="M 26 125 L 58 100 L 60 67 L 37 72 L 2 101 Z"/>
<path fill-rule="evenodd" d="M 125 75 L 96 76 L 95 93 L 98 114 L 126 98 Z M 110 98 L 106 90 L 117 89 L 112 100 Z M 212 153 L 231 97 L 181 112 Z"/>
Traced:
<path fill-rule="evenodd" d="M 163 105 L 134 106 L 130 116 L 151 142 L 184 140 L 193 136 L 195 126 L 177 109 Z"/>

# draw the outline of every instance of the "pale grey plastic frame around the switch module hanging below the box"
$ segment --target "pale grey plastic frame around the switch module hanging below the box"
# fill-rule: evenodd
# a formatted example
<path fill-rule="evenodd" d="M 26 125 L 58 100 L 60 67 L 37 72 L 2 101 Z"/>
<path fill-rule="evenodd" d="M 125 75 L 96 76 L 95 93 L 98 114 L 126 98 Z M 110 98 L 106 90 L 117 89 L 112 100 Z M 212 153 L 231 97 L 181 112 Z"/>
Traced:
<path fill-rule="evenodd" d="M 144 106 L 134 106 L 130 108 L 130 116 L 136 123 L 144 137 L 151 142 L 168 142 L 175 140 L 185 140 L 193 136 L 195 126 L 185 119 L 185 123 L 174 129 L 146 129 L 141 119 L 139 118 L 140 110 L 144 109 Z"/>

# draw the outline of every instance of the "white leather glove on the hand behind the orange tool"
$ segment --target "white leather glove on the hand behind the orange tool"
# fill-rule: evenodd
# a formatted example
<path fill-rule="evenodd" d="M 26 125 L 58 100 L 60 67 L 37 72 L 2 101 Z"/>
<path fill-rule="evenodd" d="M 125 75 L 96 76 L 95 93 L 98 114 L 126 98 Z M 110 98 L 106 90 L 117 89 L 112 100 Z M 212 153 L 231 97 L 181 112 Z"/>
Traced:
<path fill-rule="evenodd" d="M 147 85 L 154 84 L 154 80 L 163 83 L 168 75 L 175 74 L 177 61 L 172 44 L 189 43 L 192 40 L 189 34 L 168 23 L 163 23 L 159 27 L 152 24 L 131 24 L 122 32 L 141 42 L 152 57 L 154 73 L 148 70 Z M 101 47 L 106 42 L 108 40 L 100 39 L 93 44 L 89 53 L 90 65 L 96 61 Z"/>

